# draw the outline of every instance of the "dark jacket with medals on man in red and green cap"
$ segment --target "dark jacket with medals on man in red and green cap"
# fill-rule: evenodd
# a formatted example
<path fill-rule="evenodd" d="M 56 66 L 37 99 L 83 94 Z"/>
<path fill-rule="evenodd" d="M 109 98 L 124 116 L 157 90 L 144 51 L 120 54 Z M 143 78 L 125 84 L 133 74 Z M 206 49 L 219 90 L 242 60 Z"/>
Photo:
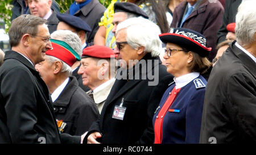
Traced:
<path fill-rule="evenodd" d="M 66 123 L 64 127 L 62 125 L 61 132 L 69 135 L 81 136 L 100 116 L 96 104 L 78 86 L 73 76 L 69 77 L 67 86 L 53 102 L 53 107 L 56 119 Z"/>

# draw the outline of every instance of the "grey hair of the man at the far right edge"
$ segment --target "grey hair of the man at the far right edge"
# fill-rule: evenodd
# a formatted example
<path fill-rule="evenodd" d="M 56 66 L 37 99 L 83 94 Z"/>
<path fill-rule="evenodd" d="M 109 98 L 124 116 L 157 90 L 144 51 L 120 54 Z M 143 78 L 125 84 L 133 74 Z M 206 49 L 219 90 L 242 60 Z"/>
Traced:
<path fill-rule="evenodd" d="M 244 46 L 253 43 L 256 32 L 256 9 L 254 1 L 242 1 L 236 15 L 235 33 L 238 44 Z"/>

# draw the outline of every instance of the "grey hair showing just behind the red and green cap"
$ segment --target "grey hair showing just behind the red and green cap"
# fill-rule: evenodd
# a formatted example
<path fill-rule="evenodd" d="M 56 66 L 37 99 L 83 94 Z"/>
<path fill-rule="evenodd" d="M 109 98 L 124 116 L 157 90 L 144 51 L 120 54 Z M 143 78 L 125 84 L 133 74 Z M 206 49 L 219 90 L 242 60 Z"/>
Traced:
<path fill-rule="evenodd" d="M 80 57 L 82 56 L 81 40 L 76 33 L 69 30 L 57 30 L 51 33 L 51 37 L 52 39 L 65 41 Z"/>

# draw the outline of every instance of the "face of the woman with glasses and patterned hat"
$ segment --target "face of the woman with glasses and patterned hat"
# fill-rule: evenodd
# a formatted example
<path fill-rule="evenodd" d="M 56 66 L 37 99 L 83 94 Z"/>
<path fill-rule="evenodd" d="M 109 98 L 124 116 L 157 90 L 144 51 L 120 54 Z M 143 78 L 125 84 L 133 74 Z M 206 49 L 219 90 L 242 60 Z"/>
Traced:
<path fill-rule="evenodd" d="M 167 72 L 171 73 L 174 77 L 180 77 L 184 74 L 188 74 L 188 64 L 192 61 L 188 52 L 182 51 L 183 49 L 179 45 L 173 43 L 167 43 L 166 49 L 167 51 L 168 49 L 175 50 L 171 51 L 171 56 L 168 56 L 168 52 L 164 53 Z"/>

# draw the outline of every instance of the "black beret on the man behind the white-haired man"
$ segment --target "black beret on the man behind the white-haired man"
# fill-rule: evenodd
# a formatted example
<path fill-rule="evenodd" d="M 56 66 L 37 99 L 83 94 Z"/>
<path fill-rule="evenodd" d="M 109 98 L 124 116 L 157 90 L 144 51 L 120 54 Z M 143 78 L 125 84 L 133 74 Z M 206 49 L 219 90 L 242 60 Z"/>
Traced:
<path fill-rule="evenodd" d="M 114 12 L 129 12 L 138 16 L 143 16 L 143 18 L 148 19 L 148 15 L 137 5 L 129 2 L 115 2 Z"/>

